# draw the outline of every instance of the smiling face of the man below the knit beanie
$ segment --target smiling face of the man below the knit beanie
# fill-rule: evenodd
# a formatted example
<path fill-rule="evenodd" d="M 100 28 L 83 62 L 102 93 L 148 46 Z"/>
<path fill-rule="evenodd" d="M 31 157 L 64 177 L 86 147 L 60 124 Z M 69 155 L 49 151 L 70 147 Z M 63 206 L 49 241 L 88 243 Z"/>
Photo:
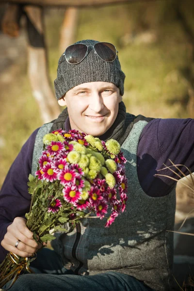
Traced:
<path fill-rule="evenodd" d="M 121 101 L 119 88 L 101 81 L 78 85 L 58 100 L 59 105 L 67 106 L 71 128 L 93 136 L 111 128 Z"/>

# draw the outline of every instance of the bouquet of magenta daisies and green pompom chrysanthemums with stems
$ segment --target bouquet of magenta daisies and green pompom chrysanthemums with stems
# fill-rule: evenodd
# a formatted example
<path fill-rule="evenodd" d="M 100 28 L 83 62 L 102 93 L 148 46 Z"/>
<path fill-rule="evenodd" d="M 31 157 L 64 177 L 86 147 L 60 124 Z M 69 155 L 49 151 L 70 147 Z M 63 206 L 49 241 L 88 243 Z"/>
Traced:
<path fill-rule="evenodd" d="M 27 226 L 40 242 L 55 239 L 53 233 L 66 231 L 84 217 L 103 219 L 110 209 L 105 227 L 126 208 L 126 159 L 117 141 L 106 143 L 78 130 L 58 129 L 43 138 L 43 151 L 38 160 L 36 177 L 29 176 L 32 194 Z M 96 216 L 95 216 L 96 215 Z M 35 259 L 9 253 L 0 265 L 0 288 L 22 270 L 31 272 Z"/>

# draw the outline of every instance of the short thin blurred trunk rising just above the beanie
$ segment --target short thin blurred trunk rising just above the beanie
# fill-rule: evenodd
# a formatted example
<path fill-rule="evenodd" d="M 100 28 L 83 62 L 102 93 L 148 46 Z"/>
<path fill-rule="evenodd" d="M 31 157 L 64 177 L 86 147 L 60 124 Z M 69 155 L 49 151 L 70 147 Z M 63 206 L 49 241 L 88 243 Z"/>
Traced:
<path fill-rule="evenodd" d="M 74 42 L 77 32 L 78 8 L 68 7 L 65 10 L 64 21 L 60 33 L 60 54 L 64 53 L 65 48 Z"/>

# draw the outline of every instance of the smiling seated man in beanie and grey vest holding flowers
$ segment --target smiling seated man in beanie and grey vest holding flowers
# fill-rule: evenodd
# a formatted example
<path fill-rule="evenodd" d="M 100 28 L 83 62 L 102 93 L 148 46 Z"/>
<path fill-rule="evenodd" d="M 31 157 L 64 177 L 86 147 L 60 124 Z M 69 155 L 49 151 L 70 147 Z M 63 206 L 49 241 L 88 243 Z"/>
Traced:
<path fill-rule="evenodd" d="M 128 161 L 127 210 L 109 229 L 104 221 L 83 219 L 74 231 L 57 234 L 55 252 L 40 251 L 32 265 L 36 273 L 44 274 L 21 275 L 11 291 L 171 288 L 175 182 L 155 174 L 168 159 L 194 171 L 194 120 L 126 113 L 125 75 L 116 52 L 112 44 L 83 40 L 61 56 L 54 84 L 58 102 L 67 110 L 32 133 L 5 179 L 0 194 L 0 258 L 5 250 L 26 257 L 40 247 L 24 214 L 31 200 L 28 176 L 35 173 L 42 137 L 49 131 L 78 129 L 121 144 Z M 163 174 L 175 177 L 170 171 Z"/>

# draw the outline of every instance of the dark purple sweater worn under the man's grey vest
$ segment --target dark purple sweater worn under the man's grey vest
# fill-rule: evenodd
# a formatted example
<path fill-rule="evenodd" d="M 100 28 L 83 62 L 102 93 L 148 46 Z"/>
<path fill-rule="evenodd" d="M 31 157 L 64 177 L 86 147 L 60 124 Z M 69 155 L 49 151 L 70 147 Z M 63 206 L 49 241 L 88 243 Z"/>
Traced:
<path fill-rule="evenodd" d="M 15 217 L 25 217 L 30 209 L 28 176 L 31 173 L 32 154 L 36 129 L 22 147 L 13 162 L 0 191 L 0 241 Z M 144 192 L 152 197 L 167 195 L 176 182 L 170 178 L 157 177 L 163 163 L 184 164 L 194 172 L 194 119 L 154 119 L 140 137 L 137 151 L 137 173 Z M 188 174 L 185 167 L 181 170 Z M 159 172 L 177 178 L 170 170 Z M 7 251 L 0 245 L 0 262 Z"/>

